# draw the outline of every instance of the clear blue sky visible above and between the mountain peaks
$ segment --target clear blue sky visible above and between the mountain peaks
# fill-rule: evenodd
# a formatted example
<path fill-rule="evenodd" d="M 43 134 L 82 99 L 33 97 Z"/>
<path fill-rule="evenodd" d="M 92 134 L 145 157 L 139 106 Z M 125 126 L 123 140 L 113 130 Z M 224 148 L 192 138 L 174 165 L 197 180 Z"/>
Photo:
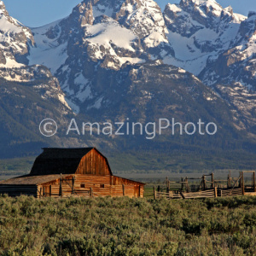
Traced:
<path fill-rule="evenodd" d="M 82 0 L 3 0 L 9 15 L 26 26 L 43 26 L 69 15 L 74 6 Z M 179 3 L 179 0 L 156 0 L 164 9 L 166 3 Z M 223 7 L 231 5 L 236 13 L 247 15 L 256 11 L 256 0 L 218 0 Z"/>

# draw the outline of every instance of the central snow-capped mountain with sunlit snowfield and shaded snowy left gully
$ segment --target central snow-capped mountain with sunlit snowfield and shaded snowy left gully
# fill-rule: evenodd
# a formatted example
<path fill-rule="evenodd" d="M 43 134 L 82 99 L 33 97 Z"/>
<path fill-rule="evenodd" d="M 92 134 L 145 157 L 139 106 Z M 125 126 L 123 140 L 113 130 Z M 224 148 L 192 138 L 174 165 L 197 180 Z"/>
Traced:
<path fill-rule="evenodd" d="M 88 100 L 102 101 L 92 85 L 99 69 L 117 71 L 125 63 L 161 58 L 164 51 L 173 54 L 160 7 L 152 0 L 85 0 L 66 19 L 32 32 L 30 64 L 50 68 L 75 112 Z M 99 106 L 87 108 L 94 105 Z"/>

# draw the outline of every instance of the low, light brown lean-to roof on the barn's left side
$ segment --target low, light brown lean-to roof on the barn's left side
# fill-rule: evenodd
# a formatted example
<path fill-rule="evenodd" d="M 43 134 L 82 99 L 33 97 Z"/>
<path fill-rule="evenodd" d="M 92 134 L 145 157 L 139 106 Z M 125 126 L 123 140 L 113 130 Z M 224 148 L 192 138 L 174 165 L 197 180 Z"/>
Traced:
<path fill-rule="evenodd" d="M 62 178 L 68 177 L 70 175 L 63 175 Z M 13 177 L 7 180 L 3 180 L 0 182 L 0 185 L 38 185 L 42 183 L 49 183 L 56 179 L 59 179 L 60 175 L 44 175 L 44 176 L 31 176 L 31 175 L 23 175 L 20 177 Z"/>

